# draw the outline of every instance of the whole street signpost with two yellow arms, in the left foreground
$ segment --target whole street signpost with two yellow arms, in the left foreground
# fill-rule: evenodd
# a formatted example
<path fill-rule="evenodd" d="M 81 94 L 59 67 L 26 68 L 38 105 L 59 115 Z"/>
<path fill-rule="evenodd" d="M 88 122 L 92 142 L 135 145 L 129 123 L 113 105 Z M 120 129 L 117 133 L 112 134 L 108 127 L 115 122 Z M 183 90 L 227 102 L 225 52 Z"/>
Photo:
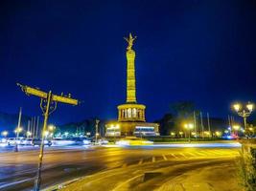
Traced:
<path fill-rule="evenodd" d="M 38 168 L 37 168 L 37 174 L 35 179 L 35 186 L 34 191 L 39 191 L 40 189 L 40 183 L 41 183 L 41 167 L 42 167 L 42 159 L 43 159 L 43 151 L 44 151 L 44 132 L 47 128 L 47 121 L 50 114 L 52 114 L 57 109 L 57 103 L 66 103 L 70 105 L 78 105 L 79 101 L 78 99 L 71 98 L 71 95 L 69 96 L 57 96 L 52 94 L 52 91 L 49 91 L 49 93 L 42 92 L 38 89 L 24 86 L 19 83 L 17 85 L 21 88 L 21 90 L 27 95 L 27 96 L 38 96 L 40 97 L 40 108 L 42 110 L 44 121 L 43 121 L 43 129 L 41 133 L 41 145 L 40 145 L 40 153 L 39 153 L 39 160 L 38 160 Z"/>

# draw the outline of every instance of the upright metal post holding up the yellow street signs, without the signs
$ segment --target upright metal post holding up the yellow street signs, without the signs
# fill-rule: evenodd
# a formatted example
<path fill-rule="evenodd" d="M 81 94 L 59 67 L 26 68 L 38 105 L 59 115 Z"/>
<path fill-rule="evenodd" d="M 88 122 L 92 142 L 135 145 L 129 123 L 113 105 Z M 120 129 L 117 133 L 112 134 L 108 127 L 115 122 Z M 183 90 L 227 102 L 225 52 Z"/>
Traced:
<path fill-rule="evenodd" d="M 40 183 L 41 183 L 41 167 L 42 167 L 42 159 L 43 159 L 43 149 L 44 149 L 44 132 L 47 127 L 47 121 L 49 116 L 49 108 L 50 108 L 50 102 L 52 98 L 52 91 L 48 93 L 47 97 L 47 104 L 46 104 L 46 110 L 44 115 L 44 121 L 43 121 L 43 129 L 41 134 L 41 145 L 40 145 L 40 154 L 39 154 L 39 161 L 38 161 L 38 168 L 37 168 L 37 175 L 35 179 L 35 187 L 34 191 L 39 191 L 40 189 Z"/>

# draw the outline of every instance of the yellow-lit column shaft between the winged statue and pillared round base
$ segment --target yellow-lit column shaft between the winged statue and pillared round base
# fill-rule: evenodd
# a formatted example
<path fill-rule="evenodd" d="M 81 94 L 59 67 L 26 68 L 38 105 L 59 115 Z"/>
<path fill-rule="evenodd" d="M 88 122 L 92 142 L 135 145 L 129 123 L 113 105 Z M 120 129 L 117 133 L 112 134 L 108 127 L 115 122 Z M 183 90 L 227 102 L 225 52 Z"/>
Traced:
<path fill-rule="evenodd" d="M 127 75 L 127 102 L 136 103 L 136 80 L 135 80 L 135 52 L 127 51 L 128 75 Z"/>

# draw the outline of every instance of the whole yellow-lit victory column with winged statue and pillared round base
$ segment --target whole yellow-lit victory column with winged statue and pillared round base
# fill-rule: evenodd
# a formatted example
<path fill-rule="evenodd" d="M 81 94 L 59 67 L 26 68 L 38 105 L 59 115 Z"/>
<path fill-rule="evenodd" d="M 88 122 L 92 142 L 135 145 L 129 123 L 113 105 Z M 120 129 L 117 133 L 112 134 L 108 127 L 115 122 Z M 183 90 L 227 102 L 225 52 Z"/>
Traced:
<path fill-rule="evenodd" d="M 136 39 L 129 33 L 127 48 L 127 102 L 119 105 L 118 121 L 107 123 L 107 137 L 118 136 L 156 136 L 158 135 L 158 124 L 148 123 L 145 119 L 146 106 L 137 103 L 136 79 L 135 79 L 135 52 L 132 50 L 133 41 Z"/>

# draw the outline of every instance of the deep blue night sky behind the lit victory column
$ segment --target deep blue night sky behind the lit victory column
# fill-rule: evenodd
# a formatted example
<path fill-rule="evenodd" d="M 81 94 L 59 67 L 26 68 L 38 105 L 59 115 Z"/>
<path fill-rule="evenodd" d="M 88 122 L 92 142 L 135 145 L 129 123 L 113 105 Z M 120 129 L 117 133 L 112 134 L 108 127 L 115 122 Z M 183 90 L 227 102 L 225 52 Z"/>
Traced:
<path fill-rule="evenodd" d="M 137 100 L 149 121 L 193 100 L 226 117 L 235 100 L 256 101 L 255 1 L 1 1 L 0 111 L 40 115 L 39 99 L 15 83 L 71 93 L 64 123 L 116 118 L 126 100 L 126 47 L 137 36 Z"/>

